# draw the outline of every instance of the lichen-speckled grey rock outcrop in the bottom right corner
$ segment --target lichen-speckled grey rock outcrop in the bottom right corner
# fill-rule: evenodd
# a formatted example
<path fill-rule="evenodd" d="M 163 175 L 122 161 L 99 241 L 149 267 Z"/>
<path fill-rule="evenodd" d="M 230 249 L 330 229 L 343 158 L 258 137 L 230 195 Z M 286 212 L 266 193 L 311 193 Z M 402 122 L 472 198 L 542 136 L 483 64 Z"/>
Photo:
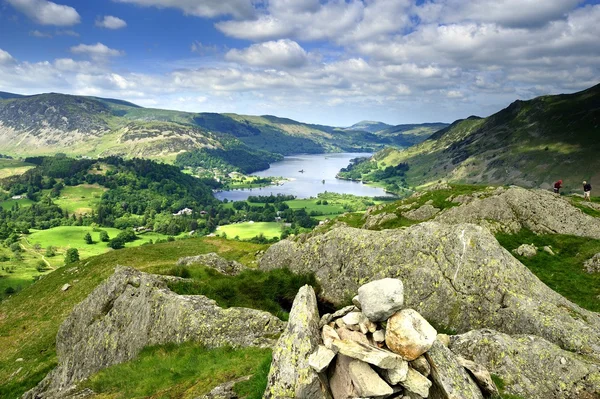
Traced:
<path fill-rule="evenodd" d="M 473 330 L 452 337 L 450 349 L 502 378 L 506 394 L 579 399 L 594 398 L 600 392 L 598 361 L 562 350 L 543 338 Z"/>

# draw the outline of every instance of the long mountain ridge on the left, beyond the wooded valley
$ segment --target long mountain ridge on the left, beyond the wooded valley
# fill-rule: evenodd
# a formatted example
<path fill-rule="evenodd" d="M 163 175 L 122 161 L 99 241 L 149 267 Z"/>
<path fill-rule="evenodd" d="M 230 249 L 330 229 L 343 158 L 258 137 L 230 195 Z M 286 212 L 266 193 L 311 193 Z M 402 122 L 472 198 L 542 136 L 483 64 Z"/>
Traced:
<path fill-rule="evenodd" d="M 172 162 L 203 148 L 247 146 L 281 155 L 377 151 L 393 140 L 362 130 L 305 124 L 276 116 L 192 113 L 143 108 L 98 97 L 47 93 L 0 97 L 0 152 L 65 152 Z"/>

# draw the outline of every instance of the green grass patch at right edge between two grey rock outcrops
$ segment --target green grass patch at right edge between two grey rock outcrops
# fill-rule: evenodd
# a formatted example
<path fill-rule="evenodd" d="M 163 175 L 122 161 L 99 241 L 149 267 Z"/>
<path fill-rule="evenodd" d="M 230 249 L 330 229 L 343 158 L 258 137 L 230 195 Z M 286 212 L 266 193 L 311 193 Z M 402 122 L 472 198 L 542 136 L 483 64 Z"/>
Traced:
<path fill-rule="evenodd" d="M 500 244 L 509 251 L 521 244 L 534 244 L 537 247 L 549 245 L 556 253 L 544 251 L 532 258 L 515 254 L 548 287 L 582 308 L 600 312 L 600 274 L 589 274 L 583 263 L 600 253 L 600 240 L 567 235 L 535 235 L 521 230 L 518 234 L 497 234 Z"/>

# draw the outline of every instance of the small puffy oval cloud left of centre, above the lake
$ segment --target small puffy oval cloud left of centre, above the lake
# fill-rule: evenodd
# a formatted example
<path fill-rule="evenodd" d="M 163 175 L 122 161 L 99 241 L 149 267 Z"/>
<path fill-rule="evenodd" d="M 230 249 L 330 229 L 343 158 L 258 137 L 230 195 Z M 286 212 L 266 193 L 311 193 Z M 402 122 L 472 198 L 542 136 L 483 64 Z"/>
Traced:
<path fill-rule="evenodd" d="M 292 40 L 253 44 L 244 50 L 230 50 L 225 54 L 228 61 L 271 68 L 297 68 L 308 61 L 306 51 Z"/>

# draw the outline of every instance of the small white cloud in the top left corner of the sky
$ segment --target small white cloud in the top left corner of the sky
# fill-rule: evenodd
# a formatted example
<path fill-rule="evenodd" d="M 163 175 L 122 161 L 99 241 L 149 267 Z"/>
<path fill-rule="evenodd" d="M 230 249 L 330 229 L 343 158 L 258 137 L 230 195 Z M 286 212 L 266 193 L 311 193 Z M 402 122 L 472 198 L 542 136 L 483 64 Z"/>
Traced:
<path fill-rule="evenodd" d="M 6 0 L 9 4 L 41 25 L 71 26 L 80 22 L 73 7 L 47 0 Z"/>

